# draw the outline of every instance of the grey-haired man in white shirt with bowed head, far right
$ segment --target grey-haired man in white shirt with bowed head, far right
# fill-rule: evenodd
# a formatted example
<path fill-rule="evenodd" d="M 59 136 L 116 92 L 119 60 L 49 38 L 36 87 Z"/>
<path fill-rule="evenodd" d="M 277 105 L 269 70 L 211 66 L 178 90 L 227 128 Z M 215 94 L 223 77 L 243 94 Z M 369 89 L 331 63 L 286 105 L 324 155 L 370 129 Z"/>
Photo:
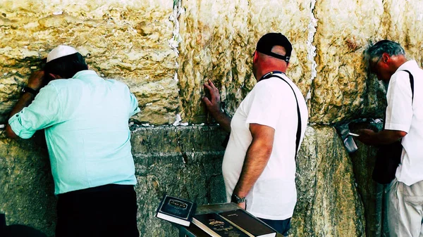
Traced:
<path fill-rule="evenodd" d="M 388 83 L 388 107 L 384 130 L 362 129 L 357 139 L 369 145 L 402 139 L 396 179 L 388 186 L 388 229 L 391 236 L 423 237 L 423 70 L 393 41 L 379 41 L 367 54 L 372 72 Z"/>

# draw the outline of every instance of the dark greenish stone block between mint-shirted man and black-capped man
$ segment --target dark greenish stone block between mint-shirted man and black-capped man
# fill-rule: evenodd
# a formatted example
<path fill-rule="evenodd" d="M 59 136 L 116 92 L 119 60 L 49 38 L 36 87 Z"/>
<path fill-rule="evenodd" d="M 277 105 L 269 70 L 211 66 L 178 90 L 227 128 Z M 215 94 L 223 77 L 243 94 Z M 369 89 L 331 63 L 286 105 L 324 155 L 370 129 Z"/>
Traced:
<path fill-rule="evenodd" d="M 139 128 L 133 132 L 142 236 L 178 236 L 175 227 L 154 217 L 164 193 L 198 205 L 226 201 L 221 175 L 224 135 L 216 127 Z"/>

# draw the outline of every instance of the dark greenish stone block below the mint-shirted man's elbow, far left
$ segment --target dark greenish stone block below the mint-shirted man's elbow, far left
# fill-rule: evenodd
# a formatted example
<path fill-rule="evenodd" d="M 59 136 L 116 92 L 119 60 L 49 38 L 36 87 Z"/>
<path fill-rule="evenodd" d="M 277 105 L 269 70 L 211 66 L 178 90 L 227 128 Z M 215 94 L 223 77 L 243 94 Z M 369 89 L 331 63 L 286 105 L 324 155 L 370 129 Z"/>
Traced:
<path fill-rule="evenodd" d="M 0 134 L 0 213 L 6 214 L 7 224 L 31 226 L 54 236 L 53 193 L 47 149 L 34 139 L 11 141 Z"/>

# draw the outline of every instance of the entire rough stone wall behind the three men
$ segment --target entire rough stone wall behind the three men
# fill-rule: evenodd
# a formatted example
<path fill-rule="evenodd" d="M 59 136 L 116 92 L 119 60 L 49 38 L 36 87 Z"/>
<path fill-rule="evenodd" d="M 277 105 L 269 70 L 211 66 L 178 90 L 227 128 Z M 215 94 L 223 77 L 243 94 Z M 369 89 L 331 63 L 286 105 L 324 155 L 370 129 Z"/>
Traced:
<path fill-rule="evenodd" d="M 42 58 L 58 44 L 75 46 L 90 68 L 125 82 L 137 96 L 142 112 L 133 122 L 143 124 L 133 131 L 140 230 L 149 230 L 145 236 L 176 235 L 152 217 L 155 203 L 164 192 L 198 203 L 223 200 L 223 134 L 207 125 L 168 124 L 177 115 L 179 122 L 213 123 L 200 102 L 206 79 L 234 113 L 255 84 L 251 58 L 257 40 L 283 32 L 294 49 L 288 76 L 307 98 L 310 114 L 298 159 L 293 233 L 376 236 L 381 230 L 367 165 L 374 150 L 360 144 L 351 163 L 333 126 L 383 117 L 386 91 L 367 72 L 363 52 L 379 39 L 392 39 L 421 64 L 422 20 L 419 0 L 3 0 L 0 124 L 30 73 L 42 68 Z M 149 124 L 156 127 L 143 127 Z M 9 224 L 53 233 L 55 198 L 39 143 L 0 140 L 0 184 L 0 212 Z"/>

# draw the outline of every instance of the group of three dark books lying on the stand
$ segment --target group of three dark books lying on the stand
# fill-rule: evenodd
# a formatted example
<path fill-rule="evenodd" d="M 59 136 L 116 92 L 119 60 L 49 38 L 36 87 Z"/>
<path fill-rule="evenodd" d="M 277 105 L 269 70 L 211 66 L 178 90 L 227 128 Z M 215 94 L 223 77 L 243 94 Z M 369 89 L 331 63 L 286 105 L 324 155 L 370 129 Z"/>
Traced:
<path fill-rule="evenodd" d="M 187 226 L 197 237 L 274 237 L 276 231 L 245 210 L 197 214 L 197 205 L 188 200 L 164 196 L 156 216 Z M 190 225 L 190 223 L 194 225 Z M 189 227 L 188 227 L 189 226 Z"/>

